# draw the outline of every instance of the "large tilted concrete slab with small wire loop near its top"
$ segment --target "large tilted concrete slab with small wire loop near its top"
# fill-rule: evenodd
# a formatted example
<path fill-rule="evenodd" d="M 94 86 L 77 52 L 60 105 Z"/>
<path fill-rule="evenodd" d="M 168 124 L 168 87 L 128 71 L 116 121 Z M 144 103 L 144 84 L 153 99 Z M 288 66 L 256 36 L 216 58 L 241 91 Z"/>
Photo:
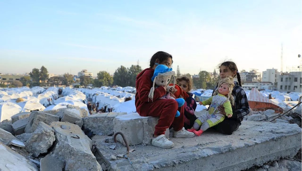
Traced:
<path fill-rule="evenodd" d="M 62 129 L 62 125 L 70 129 Z M 92 141 L 78 125 L 69 122 L 52 122 L 56 141 L 51 156 L 65 161 L 65 170 L 101 171 L 101 165 L 93 155 Z"/>

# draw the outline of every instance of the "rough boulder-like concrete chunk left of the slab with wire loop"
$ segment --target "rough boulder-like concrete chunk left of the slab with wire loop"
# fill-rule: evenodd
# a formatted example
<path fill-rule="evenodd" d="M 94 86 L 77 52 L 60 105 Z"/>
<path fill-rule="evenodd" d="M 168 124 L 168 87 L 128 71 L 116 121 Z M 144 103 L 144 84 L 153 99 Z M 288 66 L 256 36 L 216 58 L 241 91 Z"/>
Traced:
<path fill-rule="evenodd" d="M 41 153 L 46 153 L 55 140 L 53 128 L 44 122 L 39 122 L 37 129 L 26 141 L 25 149 L 37 157 Z"/>

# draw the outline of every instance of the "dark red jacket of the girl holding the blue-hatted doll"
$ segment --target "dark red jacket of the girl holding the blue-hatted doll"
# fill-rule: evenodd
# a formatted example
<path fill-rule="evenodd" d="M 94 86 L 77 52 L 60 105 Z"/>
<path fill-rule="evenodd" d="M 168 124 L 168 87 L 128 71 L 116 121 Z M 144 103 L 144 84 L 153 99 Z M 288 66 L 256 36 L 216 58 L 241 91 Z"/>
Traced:
<path fill-rule="evenodd" d="M 154 69 L 147 68 L 140 72 L 136 77 L 135 107 L 140 116 L 147 116 L 149 110 L 144 107 L 147 103 L 152 103 L 166 94 L 165 87 L 159 86 L 154 90 L 153 101 L 148 97 L 150 89 L 153 86 L 153 82 L 151 81 L 153 73 Z"/>

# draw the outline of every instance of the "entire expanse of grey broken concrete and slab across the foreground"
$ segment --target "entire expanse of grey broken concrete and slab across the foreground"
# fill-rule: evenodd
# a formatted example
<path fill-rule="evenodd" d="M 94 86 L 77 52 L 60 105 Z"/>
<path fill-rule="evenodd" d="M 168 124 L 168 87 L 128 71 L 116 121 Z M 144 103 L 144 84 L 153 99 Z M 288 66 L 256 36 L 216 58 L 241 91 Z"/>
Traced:
<path fill-rule="evenodd" d="M 302 107 L 284 115 L 274 110 L 251 111 L 241 127 L 227 136 L 207 131 L 189 139 L 173 138 L 167 128 L 165 136 L 175 143 L 172 149 L 151 145 L 158 123 L 154 117 L 125 112 L 88 115 L 75 106 L 23 112 L 0 124 L 0 170 L 182 171 L 201 165 L 203 170 L 213 171 L 302 170 L 302 163 L 290 159 L 302 146 L 302 129 L 296 125 L 302 126 L 300 111 L 302 114 Z M 125 158 L 122 136 L 114 141 L 117 132 L 130 146 L 133 166 Z"/>

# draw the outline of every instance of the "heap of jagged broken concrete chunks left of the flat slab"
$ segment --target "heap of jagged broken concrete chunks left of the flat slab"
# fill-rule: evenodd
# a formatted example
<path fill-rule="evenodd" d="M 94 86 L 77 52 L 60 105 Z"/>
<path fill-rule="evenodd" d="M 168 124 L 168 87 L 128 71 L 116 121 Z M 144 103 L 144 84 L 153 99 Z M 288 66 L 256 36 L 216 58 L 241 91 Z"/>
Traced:
<path fill-rule="evenodd" d="M 67 106 L 23 112 L 12 116 L 11 121 L 2 121 L 0 170 L 102 171 L 92 153 L 92 140 L 82 131 L 83 117 L 87 116 L 85 110 Z"/>

